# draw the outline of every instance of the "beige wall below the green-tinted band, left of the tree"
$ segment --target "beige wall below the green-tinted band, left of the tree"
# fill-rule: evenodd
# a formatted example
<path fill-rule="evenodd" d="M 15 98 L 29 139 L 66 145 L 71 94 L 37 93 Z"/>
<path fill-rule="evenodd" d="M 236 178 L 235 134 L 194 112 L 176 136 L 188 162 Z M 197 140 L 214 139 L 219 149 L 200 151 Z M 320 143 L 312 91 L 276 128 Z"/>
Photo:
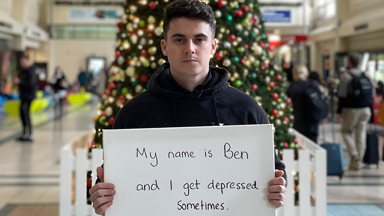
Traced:
<path fill-rule="evenodd" d="M 50 40 L 51 76 L 55 66 L 60 65 L 70 83 L 76 81 L 79 66 L 86 68 L 86 59 L 90 56 L 106 57 L 107 63 L 114 60 L 116 41 L 111 40 Z"/>

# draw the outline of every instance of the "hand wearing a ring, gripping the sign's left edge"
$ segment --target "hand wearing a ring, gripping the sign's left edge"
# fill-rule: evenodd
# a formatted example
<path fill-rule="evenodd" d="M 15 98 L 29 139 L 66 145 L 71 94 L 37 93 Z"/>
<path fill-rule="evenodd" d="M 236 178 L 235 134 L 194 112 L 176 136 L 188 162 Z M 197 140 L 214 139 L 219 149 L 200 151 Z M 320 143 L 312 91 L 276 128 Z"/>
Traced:
<path fill-rule="evenodd" d="M 97 168 L 97 175 L 101 183 L 95 184 L 89 189 L 89 194 L 91 194 L 90 199 L 96 214 L 104 215 L 105 210 L 112 205 L 113 195 L 116 194 L 116 191 L 114 190 L 115 186 L 113 184 L 104 183 L 104 169 L 102 167 Z M 96 176 L 94 178 L 96 178 Z"/>

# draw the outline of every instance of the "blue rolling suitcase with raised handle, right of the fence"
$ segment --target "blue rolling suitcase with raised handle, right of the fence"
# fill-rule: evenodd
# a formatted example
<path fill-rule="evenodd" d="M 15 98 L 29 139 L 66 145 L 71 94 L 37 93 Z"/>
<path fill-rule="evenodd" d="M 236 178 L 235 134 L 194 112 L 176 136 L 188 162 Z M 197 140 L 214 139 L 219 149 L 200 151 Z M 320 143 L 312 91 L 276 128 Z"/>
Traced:
<path fill-rule="evenodd" d="M 324 124 L 322 124 L 324 143 L 323 143 L 323 145 L 321 145 L 321 147 L 323 147 L 324 149 L 327 150 L 327 174 L 328 174 L 328 176 L 339 176 L 341 179 L 341 178 L 343 178 L 343 174 L 345 171 L 343 146 L 339 143 L 335 143 L 333 122 L 331 123 L 331 126 L 332 126 L 333 143 L 326 143 Z"/>

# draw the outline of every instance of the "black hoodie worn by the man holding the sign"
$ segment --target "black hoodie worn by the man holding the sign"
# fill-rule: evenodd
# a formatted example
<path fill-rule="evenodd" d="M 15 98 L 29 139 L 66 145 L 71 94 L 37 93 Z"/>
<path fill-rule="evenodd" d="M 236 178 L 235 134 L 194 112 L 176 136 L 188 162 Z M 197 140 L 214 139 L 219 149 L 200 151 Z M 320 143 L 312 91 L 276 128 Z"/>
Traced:
<path fill-rule="evenodd" d="M 227 70 L 209 70 L 205 84 L 191 93 L 172 78 L 169 63 L 164 63 L 149 80 L 148 91 L 121 108 L 113 129 L 269 124 L 255 99 L 229 85 Z M 283 170 L 286 179 L 276 154 L 275 169 Z"/>

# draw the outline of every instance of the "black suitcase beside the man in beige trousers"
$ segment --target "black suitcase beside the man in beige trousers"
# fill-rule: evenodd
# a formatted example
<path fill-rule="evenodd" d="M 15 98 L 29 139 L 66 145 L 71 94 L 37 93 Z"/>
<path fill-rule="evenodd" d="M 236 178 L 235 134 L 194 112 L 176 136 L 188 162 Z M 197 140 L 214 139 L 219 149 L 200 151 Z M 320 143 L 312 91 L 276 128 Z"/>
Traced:
<path fill-rule="evenodd" d="M 375 130 L 367 132 L 367 148 L 363 163 L 366 164 L 366 168 L 369 168 L 369 164 L 376 164 L 377 169 L 379 169 L 379 140 Z"/>

